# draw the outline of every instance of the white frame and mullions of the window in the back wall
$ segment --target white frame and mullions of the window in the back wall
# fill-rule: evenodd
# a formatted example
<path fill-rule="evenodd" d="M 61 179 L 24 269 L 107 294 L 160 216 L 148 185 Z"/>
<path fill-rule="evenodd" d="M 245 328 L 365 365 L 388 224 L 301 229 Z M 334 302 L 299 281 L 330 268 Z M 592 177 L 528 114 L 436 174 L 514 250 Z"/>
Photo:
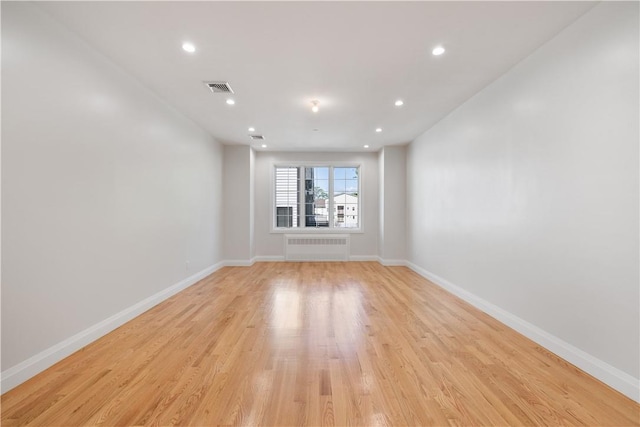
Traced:
<path fill-rule="evenodd" d="M 333 226 L 333 202 L 329 203 L 327 207 L 327 212 L 329 215 L 329 227 L 307 227 L 305 226 L 306 220 L 304 219 L 304 215 L 301 215 L 301 224 L 298 227 L 276 227 L 276 168 L 329 168 L 329 195 L 333 194 L 333 168 L 344 168 L 344 167 L 353 167 L 358 168 L 358 227 L 353 228 L 344 228 L 344 227 L 334 227 Z M 274 162 L 271 164 L 271 185 L 270 185 L 270 193 L 271 193 L 271 233 L 279 234 L 295 234 L 295 233 L 317 233 L 317 234 L 358 234 L 364 233 L 364 198 L 362 195 L 362 178 L 364 176 L 364 167 L 359 162 L 348 162 L 348 161 L 328 161 L 328 162 Z M 300 194 L 304 194 L 304 179 L 300 179 L 298 191 Z M 304 213 L 304 198 L 300 200 L 300 206 L 298 209 L 301 209 L 300 212 Z"/>

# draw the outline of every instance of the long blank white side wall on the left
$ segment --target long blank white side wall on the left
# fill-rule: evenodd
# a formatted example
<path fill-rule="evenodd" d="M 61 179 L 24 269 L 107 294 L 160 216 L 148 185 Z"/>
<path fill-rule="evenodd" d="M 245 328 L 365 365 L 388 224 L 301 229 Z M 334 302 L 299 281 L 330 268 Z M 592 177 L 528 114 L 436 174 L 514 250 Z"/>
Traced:
<path fill-rule="evenodd" d="M 222 148 L 33 4 L 2 90 L 4 373 L 222 261 Z"/>

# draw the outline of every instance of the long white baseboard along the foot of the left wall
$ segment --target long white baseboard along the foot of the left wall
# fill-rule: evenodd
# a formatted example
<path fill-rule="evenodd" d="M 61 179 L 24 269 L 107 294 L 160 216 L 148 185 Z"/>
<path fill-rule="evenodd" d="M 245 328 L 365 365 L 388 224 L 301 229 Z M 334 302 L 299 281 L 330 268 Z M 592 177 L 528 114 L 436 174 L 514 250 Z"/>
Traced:
<path fill-rule="evenodd" d="M 188 288 L 199 280 L 207 277 L 211 273 L 215 272 L 219 268 L 223 267 L 224 263 L 219 262 L 210 267 L 205 268 L 198 273 L 187 277 L 184 280 L 172 285 L 148 298 L 122 310 L 113 316 L 96 323 L 93 326 L 79 332 L 66 340 L 59 342 L 58 344 L 49 347 L 48 349 L 28 358 L 27 360 L 18 363 L 11 368 L 2 371 L 0 374 L 0 390 L 5 393 L 12 388 L 22 384 L 29 378 L 39 374 L 45 369 L 53 366 L 57 362 L 61 361 L 65 357 L 80 350 L 82 347 L 90 344 L 98 338 L 108 334 L 114 329 L 122 326 L 134 317 L 139 316 L 150 308 L 158 305 L 167 298 L 177 294 L 183 289 Z"/>

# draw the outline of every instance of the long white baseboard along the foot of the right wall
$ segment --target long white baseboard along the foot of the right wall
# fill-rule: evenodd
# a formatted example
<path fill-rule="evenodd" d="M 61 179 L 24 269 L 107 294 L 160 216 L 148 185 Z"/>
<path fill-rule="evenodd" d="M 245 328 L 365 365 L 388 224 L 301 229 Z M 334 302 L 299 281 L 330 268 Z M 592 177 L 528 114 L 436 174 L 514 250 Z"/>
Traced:
<path fill-rule="evenodd" d="M 603 383 L 618 390 L 625 396 L 635 400 L 636 402 L 640 402 L 640 379 L 632 377 L 626 372 L 603 362 L 602 360 L 572 346 L 571 344 L 551 335 L 537 326 L 532 325 L 518 316 L 493 305 L 477 295 L 454 285 L 453 283 L 413 264 L 412 262 L 407 261 L 406 265 L 441 288 L 484 311 L 489 316 L 499 320 L 510 328 L 515 329 L 525 337 L 540 344 L 569 363 L 574 364 Z"/>

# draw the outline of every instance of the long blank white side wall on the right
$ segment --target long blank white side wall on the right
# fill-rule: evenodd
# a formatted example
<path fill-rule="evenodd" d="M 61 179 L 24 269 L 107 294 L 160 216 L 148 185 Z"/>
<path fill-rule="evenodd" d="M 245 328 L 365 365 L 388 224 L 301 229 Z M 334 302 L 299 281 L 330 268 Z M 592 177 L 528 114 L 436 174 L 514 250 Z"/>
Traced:
<path fill-rule="evenodd" d="M 595 357 L 636 399 L 638 52 L 638 4 L 602 3 L 407 156 L 415 267 Z"/>

